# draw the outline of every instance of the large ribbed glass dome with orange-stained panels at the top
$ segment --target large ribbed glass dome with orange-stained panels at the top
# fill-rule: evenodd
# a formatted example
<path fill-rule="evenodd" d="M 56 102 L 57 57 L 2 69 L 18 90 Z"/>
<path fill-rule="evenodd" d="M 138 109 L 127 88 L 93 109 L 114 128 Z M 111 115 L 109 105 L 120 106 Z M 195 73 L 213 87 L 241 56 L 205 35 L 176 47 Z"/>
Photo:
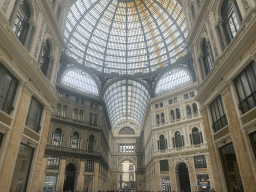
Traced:
<path fill-rule="evenodd" d="M 148 73 L 185 54 L 187 25 L 175 0 L 77 0 L 66 54 L 104 73 Z"/>

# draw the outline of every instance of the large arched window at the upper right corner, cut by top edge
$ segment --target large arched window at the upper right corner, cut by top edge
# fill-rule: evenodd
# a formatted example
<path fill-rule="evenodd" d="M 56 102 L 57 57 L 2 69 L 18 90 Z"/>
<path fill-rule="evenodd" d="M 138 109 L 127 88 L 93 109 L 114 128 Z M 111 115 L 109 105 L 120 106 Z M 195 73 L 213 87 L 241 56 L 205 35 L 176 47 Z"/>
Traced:
<path fill-rule="evenodd" d="M 229 43 L 236 35 L 241 21 L 241 14 L 237 6 L 236 0 L 225 0 L 221 8 L 221 18 L 225 30 L 225 37 Z"/>

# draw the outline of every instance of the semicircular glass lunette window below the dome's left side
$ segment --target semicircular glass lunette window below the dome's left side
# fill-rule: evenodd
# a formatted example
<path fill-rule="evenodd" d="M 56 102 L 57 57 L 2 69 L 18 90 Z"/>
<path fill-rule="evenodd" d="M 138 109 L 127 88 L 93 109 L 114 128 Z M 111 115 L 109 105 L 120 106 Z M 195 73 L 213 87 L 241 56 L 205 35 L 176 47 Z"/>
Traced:
<path fill-rule="evenodd" d="M 67 70 L 61 79 L 61 83 L 79 91 L 98 95 L 98 88 L 92 77 L 79 69 Z"/>

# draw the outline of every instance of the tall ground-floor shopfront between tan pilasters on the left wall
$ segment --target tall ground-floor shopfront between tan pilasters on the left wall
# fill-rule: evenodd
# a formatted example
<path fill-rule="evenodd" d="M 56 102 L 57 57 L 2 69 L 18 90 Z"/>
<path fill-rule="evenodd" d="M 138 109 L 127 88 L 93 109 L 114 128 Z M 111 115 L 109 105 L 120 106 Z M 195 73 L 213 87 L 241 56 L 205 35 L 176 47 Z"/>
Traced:
<path fill-rule="evenodd" d="M 10 191 L 26 191 L 33 153 L 33 148 L 20 144 Z"/>

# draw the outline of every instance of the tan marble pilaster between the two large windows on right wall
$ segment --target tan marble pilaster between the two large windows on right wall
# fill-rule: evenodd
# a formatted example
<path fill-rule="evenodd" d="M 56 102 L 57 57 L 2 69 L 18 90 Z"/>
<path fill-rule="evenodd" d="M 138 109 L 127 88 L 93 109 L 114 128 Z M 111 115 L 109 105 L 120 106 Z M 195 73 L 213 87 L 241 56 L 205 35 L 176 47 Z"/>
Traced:
<path fill-rule="evenodd" d="M 233 145 L 236 152 L 236 159 L 243 182 L 243 187 L 246 192 L 253 192 L 256 189 L 256 182 L 252 171 L 253 168 L 249 158 L 246 158 L 249 156 L 249 153 L 246 149 L 245 141 L 240 130 L 240 123 L 236 115 L 235 105 L 233 103 L 232 94 L 229 88 L 225 90 L 222 97 L 227 113 L 230 132 L 232 134 Z"/>

